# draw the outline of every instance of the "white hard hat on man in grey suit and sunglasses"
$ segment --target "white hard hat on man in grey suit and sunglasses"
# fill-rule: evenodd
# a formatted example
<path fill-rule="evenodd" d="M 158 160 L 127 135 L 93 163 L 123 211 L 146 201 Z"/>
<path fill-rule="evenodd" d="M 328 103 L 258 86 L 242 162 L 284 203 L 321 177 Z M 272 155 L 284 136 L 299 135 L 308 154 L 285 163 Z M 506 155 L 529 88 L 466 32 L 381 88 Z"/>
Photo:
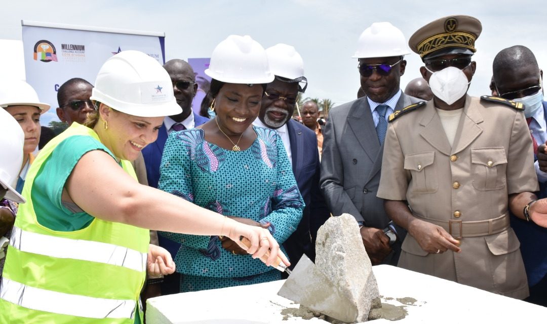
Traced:
<path fill-rule="evenodd" d="M 410 54 L 405 36 L 389 22 L 375 22 L 359 36 L 353 58 L 404 56 Z"/>

